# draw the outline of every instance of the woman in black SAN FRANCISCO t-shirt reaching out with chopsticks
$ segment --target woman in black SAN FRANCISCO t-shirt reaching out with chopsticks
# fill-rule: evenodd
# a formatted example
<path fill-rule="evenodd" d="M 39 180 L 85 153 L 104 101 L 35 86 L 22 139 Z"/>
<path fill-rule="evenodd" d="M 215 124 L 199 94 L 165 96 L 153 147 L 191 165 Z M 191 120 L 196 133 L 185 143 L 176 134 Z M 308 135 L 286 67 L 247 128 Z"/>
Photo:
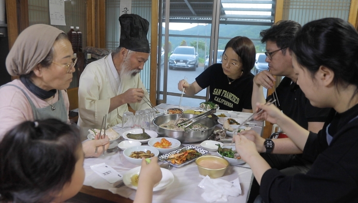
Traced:
<path fill-rule="evenodd" d="M 255 45 L 247 37 L 236 36 L 225 47 L 221 64 L 204 70 L 192 84 L 179 81 L 178 89 L 194 96 L 210 86 L 210 99 L 220 109 L 252 113 L 251 95 L 254 75 L 250 72 L 255 64 Z"/>

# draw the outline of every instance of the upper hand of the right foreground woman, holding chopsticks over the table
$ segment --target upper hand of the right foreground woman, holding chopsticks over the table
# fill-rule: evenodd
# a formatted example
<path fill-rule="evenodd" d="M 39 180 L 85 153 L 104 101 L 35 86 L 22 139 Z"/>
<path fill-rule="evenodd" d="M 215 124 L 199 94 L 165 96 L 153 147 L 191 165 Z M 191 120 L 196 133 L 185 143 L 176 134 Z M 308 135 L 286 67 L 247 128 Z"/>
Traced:
<path fill-rule="evenodd" d="M 262 112 L 254 117 L 255 120 L 267 120 L 272 124 L 284 117 L 284 114 L 275 105 L 265 105 L 256 103 L 256 112 L 262 109 Z"/>

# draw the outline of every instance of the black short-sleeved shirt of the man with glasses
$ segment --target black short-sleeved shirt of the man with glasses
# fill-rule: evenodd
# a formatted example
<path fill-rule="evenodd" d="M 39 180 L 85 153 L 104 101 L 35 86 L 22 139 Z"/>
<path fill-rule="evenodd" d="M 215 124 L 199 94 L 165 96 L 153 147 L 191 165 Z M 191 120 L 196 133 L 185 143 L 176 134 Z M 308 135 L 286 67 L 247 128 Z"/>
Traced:
<path fill-rule="evenodd" d="M 301 88 L 288 77 L 282 79 L 276 88 L 277 107 L 284 114 L 293 119 L 301 127 L 308 129 L 308 122 L 325 122 L 331 108 L 317 108 L 310 104 Z M 276 99 L 276 94 L 267 97 L 267 100 Z"/>

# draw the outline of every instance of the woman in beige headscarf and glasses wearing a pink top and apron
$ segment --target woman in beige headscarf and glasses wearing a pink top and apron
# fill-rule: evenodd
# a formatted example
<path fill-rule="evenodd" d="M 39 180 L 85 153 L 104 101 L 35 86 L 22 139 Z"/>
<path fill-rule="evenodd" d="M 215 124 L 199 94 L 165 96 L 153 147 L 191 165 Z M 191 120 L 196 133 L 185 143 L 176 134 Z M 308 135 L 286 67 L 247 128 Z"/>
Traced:
<path fill-rule="evenodd" d="M 0 87 L 0 141 L 5 133 L 25 120 L 57 118 L 69 123 L 66 90 L 76 59 L 66 34 L 49 25 L 36 24 L 17 37 L 6 58 L 6 69 L 19 76 Z M 83 142 L 86 156 L 99 156 L 109 139 Z M 98 152 L 95 152 L 98 147 Z"/>

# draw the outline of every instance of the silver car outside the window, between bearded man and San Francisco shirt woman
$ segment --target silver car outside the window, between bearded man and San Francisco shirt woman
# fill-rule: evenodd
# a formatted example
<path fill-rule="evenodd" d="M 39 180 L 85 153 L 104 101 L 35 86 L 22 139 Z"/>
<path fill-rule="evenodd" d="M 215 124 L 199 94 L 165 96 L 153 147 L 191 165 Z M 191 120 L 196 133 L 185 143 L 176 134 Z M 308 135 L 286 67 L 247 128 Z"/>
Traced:
<path fill-rule="evenodd" d="M 199 57 L 194 47 L 178 46 L 169 57 L 169 69 L 198 67 Z"/>

